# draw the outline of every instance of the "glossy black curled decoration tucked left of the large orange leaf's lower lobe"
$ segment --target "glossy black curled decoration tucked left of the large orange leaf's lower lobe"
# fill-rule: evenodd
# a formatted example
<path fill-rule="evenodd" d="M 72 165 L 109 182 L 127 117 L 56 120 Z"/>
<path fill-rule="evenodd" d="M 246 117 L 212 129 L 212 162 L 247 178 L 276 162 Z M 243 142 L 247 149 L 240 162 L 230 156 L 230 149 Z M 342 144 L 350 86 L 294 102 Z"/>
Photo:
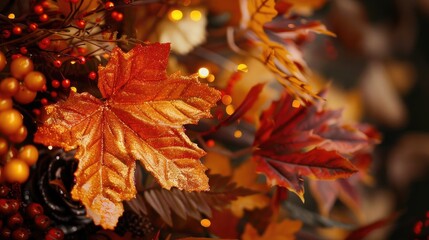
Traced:
<path fill-rule="evenodd" d="M 92 223 L 85 207 L 71 198 L 77 161 L 62 150 L 40 150 L 36 169 L 24 189 L 24 201 L 39 202 L 66 235 L 84 234 Z"/>

